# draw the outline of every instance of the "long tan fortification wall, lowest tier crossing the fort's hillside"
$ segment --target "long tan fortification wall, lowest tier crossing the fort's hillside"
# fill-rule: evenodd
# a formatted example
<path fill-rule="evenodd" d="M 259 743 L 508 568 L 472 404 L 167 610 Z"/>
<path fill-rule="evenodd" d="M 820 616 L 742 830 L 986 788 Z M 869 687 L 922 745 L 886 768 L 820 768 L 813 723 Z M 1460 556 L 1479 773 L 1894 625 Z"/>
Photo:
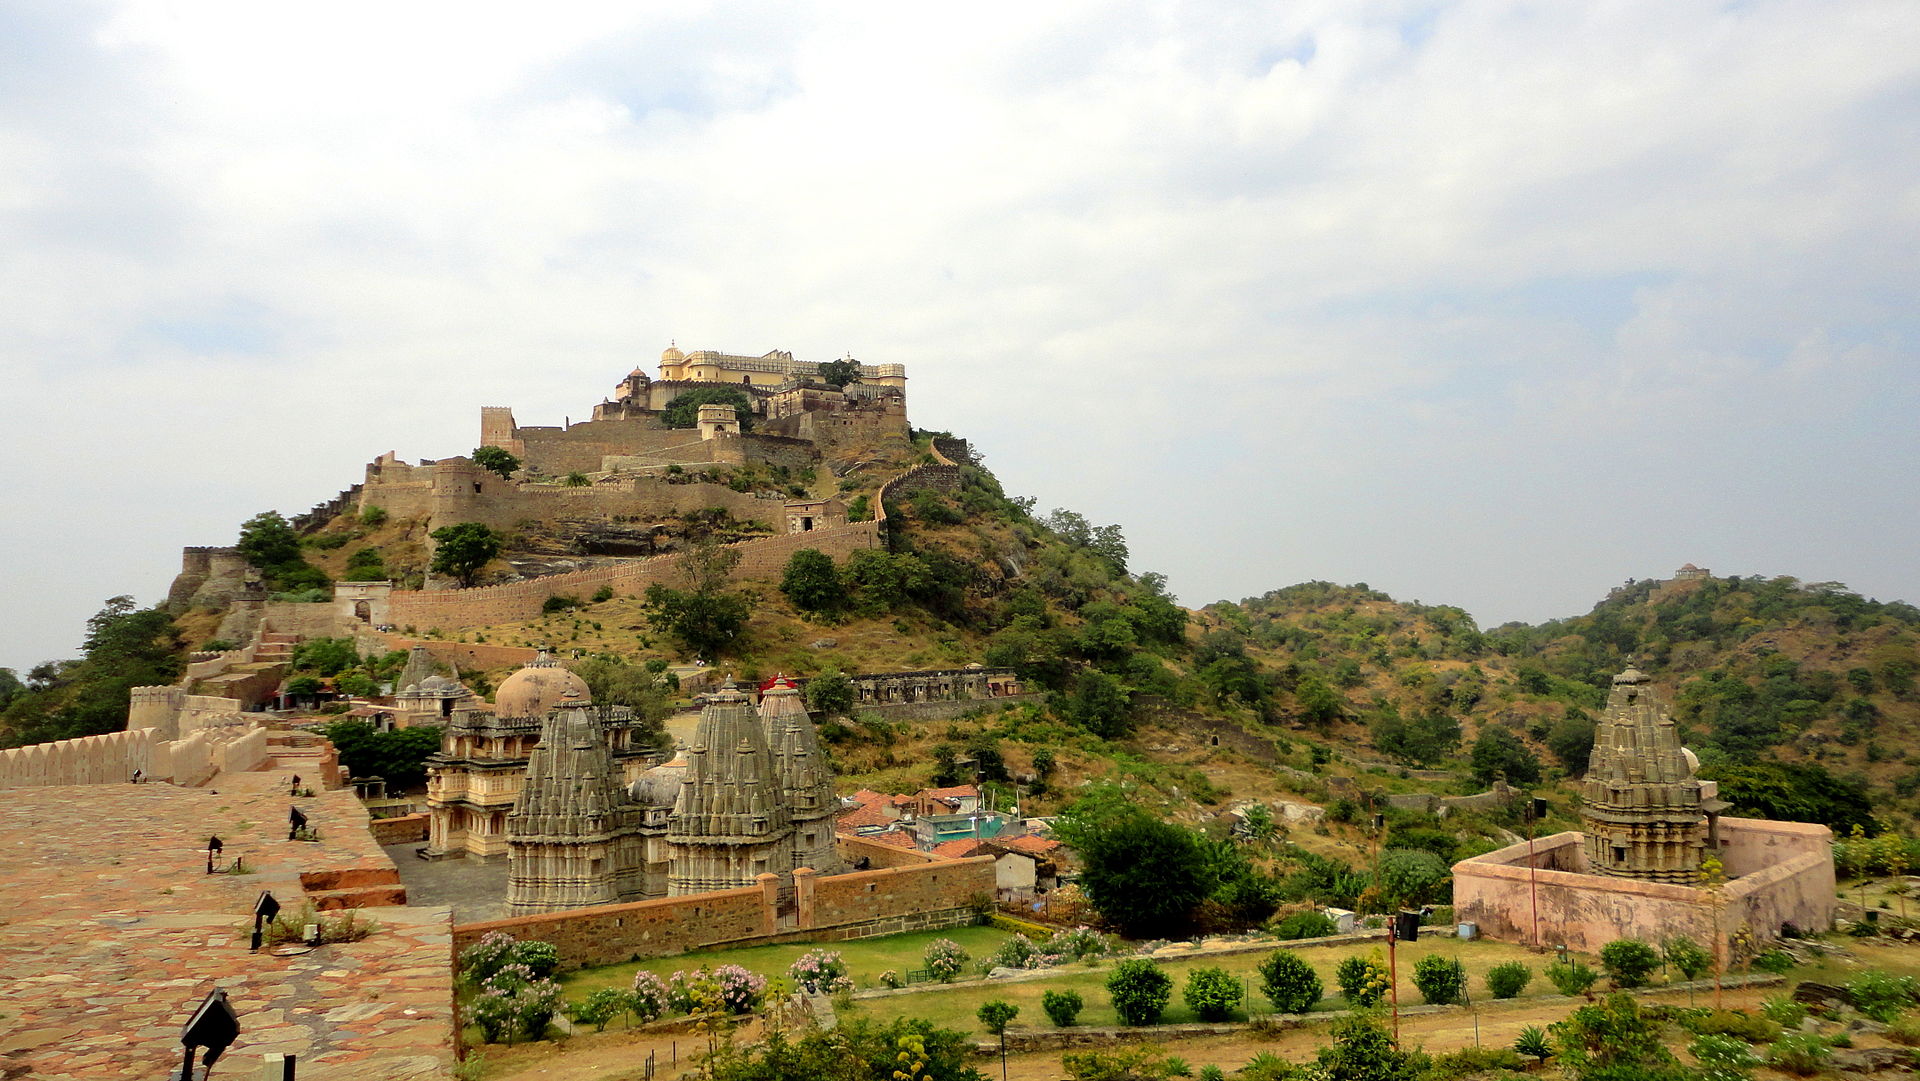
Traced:
<path fill-rule="evenodd" d="M 785 568 L 787 559 L 812 547 L 845 559 L 854 551 L 879 547 L 877 522 L 849 522 L 804 534 L 780 534 L 728 545 L 739 553 L 735 578 L 768 578 Z M 540 616 L 540 605 L 553 595 L 591 595 L 609 586 L 616 595 L 639 597 L 655 582 L 670 582 L 678 574 L 672 555 L 655 555 L 634 563 L 591 566 L 570 574 L 549 574 L 505 586 L 476 589 L 394 591 L 390 618 L 397 626 L 442 632 L 484 628 L 499 622 L 518 622 Z"/>

